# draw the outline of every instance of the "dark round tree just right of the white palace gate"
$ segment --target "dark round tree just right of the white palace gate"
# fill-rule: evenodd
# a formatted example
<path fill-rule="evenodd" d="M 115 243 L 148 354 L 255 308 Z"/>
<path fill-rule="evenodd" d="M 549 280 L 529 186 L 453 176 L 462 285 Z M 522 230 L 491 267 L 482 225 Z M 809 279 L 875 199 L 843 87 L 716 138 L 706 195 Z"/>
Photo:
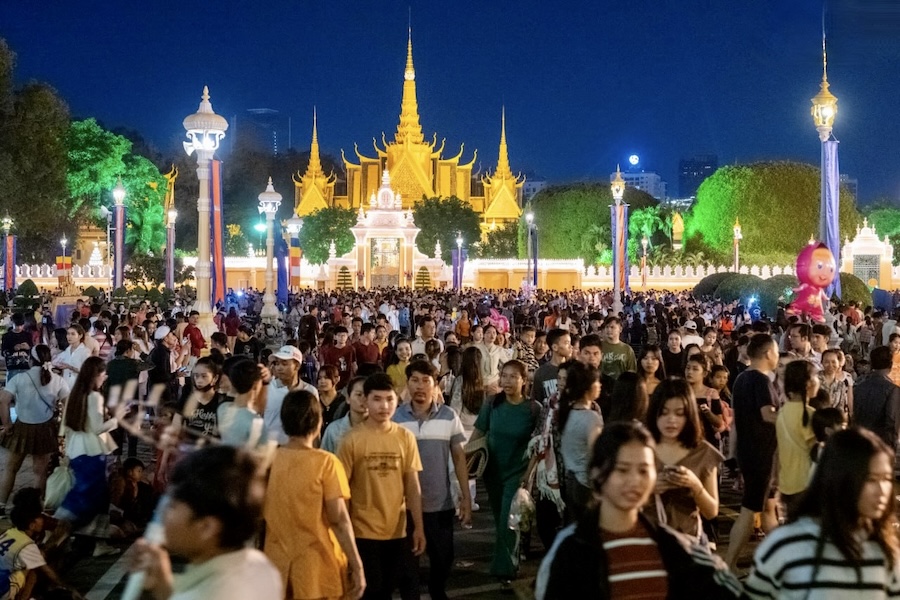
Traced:
<path fill-rule="evenodd" d="M 416 247 L 422 254 L 434 256 L 435 244 L 440 241 L 441 258 L 449 263 L 456 237 L 462 235 L 469 256 L 477 256 L 475 244 L 481 240 L 481 220 L 468 202 L 456 196 L 423 198 L 413 205 L 413 219 L 420 229 Z"/>

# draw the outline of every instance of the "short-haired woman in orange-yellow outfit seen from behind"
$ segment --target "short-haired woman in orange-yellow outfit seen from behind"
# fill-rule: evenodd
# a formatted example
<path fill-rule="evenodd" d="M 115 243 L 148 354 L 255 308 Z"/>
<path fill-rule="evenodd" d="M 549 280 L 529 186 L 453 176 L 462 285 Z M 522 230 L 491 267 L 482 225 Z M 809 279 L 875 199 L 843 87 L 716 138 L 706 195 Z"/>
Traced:
<path fill-rule="evenodd" d="M 337 457 L 315 447 L 319 402 L 306 390 L 288 392 L 280 416 L 288 442 L 275 453 L 266 488 L 266 556 L 287 598 L 359 598 L 366 579 L 347 508 L 350 486 Z"/>

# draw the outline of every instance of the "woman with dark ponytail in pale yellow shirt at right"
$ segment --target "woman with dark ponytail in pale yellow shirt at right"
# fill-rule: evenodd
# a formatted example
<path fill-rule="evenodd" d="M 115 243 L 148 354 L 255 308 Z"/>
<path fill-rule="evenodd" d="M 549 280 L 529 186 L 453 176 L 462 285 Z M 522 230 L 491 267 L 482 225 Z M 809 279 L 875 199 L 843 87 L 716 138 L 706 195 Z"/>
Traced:
<path fill-rule="evenodd" d="M 787 401 L 778 412 L 775 433 L 778 436 L 778 489 L 788 518 L 809 483 L 812 468 L 810 450 L 816 444 L 809 399 L 819 392 L 816 366 L 808 360 L 795 360 L 784 370 L 784 394 Z"/>

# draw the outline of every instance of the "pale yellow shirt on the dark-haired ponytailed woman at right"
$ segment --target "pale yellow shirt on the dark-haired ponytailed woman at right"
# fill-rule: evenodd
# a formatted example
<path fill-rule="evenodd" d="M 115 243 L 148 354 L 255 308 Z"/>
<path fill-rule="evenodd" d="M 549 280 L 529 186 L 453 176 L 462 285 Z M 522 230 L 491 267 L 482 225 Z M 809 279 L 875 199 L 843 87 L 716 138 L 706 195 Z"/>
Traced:
<path fill-rule="evenodd" d="M 785 402 L 778 411 L 775 434 L 778 437 L 778 490 L 782 494 L 799 494 L 809 484 L 812 468 L 810 450 L 816 443 L 812 416 L 816 411 L 806 407 L 809 421 L 803 426 L 803 403 Z"/>

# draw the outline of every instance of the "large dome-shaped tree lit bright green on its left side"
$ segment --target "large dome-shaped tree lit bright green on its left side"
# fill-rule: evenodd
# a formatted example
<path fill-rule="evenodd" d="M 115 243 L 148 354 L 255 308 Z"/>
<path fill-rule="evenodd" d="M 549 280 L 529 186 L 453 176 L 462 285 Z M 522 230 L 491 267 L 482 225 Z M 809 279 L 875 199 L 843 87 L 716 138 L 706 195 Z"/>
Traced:
<path fill-rule="evenodd" d="M 719 255 L 730 254 L 732 226 L 740 219 L 741 250 L 792 253 L 819 229 L 819 169 L 795 162 L 760 162 L 726 166 L 697 190 L 697 201 L 685 219 L 685 238 Z M 840 231 L 855 230 L 856 203 L 841 191 Z M 769 261 L 766 261 L 769 262 Z"/>

